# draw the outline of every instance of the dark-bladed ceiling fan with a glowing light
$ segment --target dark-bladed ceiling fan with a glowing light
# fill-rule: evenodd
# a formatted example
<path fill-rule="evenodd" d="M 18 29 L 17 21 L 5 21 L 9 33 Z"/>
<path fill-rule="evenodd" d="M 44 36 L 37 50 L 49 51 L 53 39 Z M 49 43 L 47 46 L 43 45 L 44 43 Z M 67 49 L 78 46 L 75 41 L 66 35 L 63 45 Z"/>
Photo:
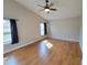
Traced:
<path fill-rule="evenodd" d="M 57 9 L 53 9 L 53 8 L 51 8 L 51 7 L 54 6 L 54 3 L 52 3 L 52 2 L 48 3 L 48 2 L 50 2 L 48 0 L 45 0 L 45 2 L 46 2 L 46 4 L 45 4 L 44 7 L 37 4 L 39 7 L 42 7 L 42 8 L 43 8 L 41 11 L 45 11 L 45 12 L 47 12 L 47 13 L 50 13 L 50 11 L 57 11 Z"/>

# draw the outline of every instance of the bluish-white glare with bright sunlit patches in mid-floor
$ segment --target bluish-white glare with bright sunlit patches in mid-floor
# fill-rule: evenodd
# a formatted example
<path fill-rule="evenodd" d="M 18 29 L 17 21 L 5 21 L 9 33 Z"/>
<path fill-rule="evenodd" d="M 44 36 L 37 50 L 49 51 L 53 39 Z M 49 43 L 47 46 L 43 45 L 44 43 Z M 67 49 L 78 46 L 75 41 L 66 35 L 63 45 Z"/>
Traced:
<path fill-rule="evenodd" d="M 53 47 L 53 44 L 51 44 L 47 40 L 44 40 L 40 43 L 39 46 L 39 55 L 42 61 L 47 61 L 50 56 L 50 48 Z"/>

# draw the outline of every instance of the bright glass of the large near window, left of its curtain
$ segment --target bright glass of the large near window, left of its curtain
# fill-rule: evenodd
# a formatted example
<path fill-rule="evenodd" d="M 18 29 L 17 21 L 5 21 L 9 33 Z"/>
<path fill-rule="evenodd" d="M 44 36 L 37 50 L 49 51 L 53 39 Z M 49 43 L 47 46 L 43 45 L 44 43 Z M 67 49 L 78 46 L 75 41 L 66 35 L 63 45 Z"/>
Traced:
<path fill-rule="evenodd" d="M 3 20 L 3 43 L 11 43 L 11 29 L 10 29 L 10 20 Z"/>

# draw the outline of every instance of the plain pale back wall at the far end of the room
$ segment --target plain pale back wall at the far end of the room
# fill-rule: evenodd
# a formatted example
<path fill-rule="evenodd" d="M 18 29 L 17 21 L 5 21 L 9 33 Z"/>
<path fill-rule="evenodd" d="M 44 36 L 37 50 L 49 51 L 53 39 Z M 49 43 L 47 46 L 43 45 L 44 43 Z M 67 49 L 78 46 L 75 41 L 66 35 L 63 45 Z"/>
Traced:
<path fill-rule="evenodd" d="M 50 22 L 50 36 L 59 40 L 79 42 L 80 17 Z"/>

